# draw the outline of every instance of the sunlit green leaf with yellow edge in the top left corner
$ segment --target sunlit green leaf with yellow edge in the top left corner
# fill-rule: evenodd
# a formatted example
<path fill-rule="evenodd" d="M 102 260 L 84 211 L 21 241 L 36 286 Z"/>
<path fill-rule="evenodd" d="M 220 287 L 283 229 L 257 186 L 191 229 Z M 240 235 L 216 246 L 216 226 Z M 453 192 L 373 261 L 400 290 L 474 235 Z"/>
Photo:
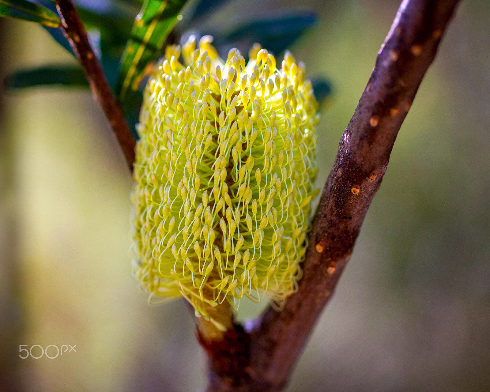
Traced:
<path fill-rule="evenodd" d="M 58 27 L 61 20 L 49 9 L 27 0 L 0 0 L 0 16 Z"/>

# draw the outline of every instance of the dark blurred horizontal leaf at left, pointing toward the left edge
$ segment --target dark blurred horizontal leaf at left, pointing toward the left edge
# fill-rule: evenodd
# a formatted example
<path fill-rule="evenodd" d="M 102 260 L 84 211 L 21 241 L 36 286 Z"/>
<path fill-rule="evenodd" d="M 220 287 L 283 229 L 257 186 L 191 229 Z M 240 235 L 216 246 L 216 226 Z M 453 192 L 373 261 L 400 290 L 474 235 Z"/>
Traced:
<path fill-rule="evenodd" d="M 71 65 L 52 65 L 10 73 L 3 79 L 3 85 L 9 90 L 49 85 L 89 86 L 83 70 Z"/>

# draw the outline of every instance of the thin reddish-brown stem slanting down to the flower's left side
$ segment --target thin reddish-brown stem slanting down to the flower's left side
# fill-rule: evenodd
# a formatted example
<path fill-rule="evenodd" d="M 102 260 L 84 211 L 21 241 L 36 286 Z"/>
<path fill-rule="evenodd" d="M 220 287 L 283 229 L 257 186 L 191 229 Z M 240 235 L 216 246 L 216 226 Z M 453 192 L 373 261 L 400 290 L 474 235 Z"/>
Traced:
<path fill-rule="evenodd" d="M 55 0 L 61 18 L 61 28 L 70 42 L 90 84 L 92 95 L 111 124 L 119 145 L 123 150 L 129 170 L 133 170 L 135 139 L 127 125 L 122 109 L 119 107 L 105 78 L 102 66 L 92 50 L 83 22 L 72 0 Z"/>

